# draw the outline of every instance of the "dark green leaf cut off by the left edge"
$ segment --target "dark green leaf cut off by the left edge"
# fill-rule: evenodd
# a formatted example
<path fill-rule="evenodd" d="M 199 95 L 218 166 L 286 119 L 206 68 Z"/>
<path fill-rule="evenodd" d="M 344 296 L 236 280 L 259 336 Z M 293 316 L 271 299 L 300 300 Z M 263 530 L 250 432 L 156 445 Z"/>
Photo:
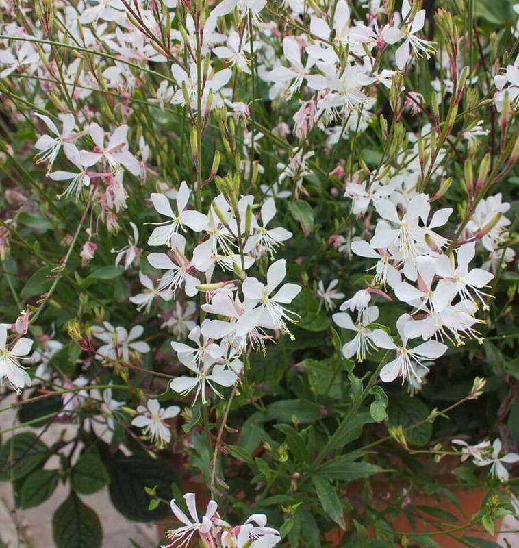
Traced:
<path fill-rule="evenodd" d="M 12 436 L 0 448 L 0 482 L 20 479 L 41 466 L 49 448 L 32 432 Z"/>

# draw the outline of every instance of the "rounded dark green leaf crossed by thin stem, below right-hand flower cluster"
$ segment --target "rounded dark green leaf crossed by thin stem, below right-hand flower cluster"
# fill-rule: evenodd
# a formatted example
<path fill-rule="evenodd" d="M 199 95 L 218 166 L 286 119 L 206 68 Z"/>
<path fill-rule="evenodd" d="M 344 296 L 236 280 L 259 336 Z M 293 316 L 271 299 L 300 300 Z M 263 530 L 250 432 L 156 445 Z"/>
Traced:
<path fill-rule="evenodd" d="M 390 425 L 394 427 L 401 425 L 405 430 L 407 427 L 427 419 L 429 409 L 425 403 L 416 397 L 398 396 L 390 400 L 388 416 Z M 433 425 L 426 422 L 420 426 L 405 430 L 404 435 L 407 443 L 411 445 L 425 445 L 429 443 L 432 432 Z"/>

